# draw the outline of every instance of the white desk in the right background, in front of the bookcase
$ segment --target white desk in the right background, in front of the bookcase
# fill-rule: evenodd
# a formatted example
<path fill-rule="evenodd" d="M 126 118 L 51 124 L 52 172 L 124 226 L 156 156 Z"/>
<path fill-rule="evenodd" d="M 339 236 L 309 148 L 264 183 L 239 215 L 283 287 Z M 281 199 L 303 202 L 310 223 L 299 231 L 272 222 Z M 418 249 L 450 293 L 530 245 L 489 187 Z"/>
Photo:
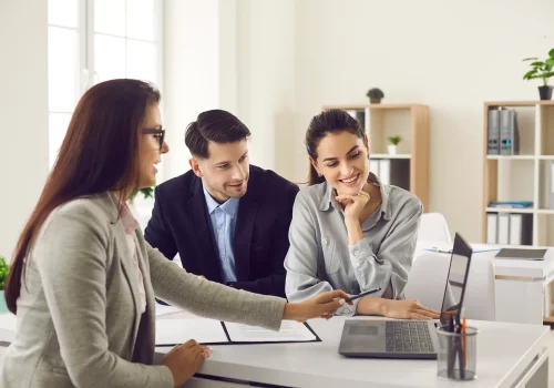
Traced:
<path fill-rule="evenodd" d="M 475 248 L 483 247 L 482 244 L 471 245 L 474 245 Z M 424 251 L 424 247 L 430 246 L 433 246 L 432 243 L 418 245 L 414 261 L 422 253 L 429 254 L 430 252 Z M 497 247 L 503 246 L 499 245 Z M 449 256 L 448 254 L 435 254 Z M 496 321 L 543 325 L 543 318 L 547 315 L 546 313 L 550 313 L 545 312 L 545 300 L 550 309 L 548 285 L 554 279 L 554 248 L 548 249 L 544 261 L 499 259 L 494 258 L 496 254 L 497 251 L 473 254 L 474 257 L 486 255 L 492 258 Z"/>

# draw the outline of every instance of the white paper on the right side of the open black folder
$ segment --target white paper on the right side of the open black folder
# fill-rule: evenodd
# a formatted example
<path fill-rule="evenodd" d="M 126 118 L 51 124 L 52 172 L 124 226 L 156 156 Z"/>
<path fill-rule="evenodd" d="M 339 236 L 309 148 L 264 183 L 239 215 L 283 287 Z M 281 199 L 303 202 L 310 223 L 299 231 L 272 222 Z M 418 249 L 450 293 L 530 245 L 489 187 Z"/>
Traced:
<path fill-rule="evenodd" d="M 225 323 L 227 334 L 233 343 L 281 343 L 317 340 L 306 325 L 286 320 L 279 331 L 264 329 L 257 326 Z"/>

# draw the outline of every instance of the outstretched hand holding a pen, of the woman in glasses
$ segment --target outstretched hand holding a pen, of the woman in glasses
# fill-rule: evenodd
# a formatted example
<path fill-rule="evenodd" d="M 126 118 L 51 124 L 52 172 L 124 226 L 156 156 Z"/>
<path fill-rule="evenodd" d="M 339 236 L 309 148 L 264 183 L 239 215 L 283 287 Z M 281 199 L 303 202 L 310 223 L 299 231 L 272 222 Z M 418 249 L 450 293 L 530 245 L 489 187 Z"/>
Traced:
<path fill-rule="evenodd" d="M 348 295 L 341 289 L 321 293 L 312 296 L 300 303 L 287 303 L 283 319 L 306 321 L 311 318 L 326 318 L 332 317 L 340 306 L 345 305 L 345 299 Z M 352 305 L 352 303 L 348 303 Z"/>

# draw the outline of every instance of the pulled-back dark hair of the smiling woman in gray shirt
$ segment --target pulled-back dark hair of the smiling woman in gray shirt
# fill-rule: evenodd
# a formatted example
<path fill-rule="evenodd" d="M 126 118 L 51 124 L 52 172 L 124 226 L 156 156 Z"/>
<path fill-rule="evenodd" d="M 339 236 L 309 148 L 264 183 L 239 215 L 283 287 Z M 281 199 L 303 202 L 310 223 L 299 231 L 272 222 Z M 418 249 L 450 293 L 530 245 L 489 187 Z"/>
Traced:
<path fill-rule="evenodd" d="M 348 112 L 340 109 L 331 109 L 315 115 L 306 131 L 306 150 L 308 155 L 317 161 L 317 147 L 321 139 L 329 133 L 348 131 L 360 139 L 365 139 L 360 122 L 352 118 Z M 310 163 L 308 175 L 308 186 L 325 182 L 325 177 L 318 176 L 316 169 Z"/>

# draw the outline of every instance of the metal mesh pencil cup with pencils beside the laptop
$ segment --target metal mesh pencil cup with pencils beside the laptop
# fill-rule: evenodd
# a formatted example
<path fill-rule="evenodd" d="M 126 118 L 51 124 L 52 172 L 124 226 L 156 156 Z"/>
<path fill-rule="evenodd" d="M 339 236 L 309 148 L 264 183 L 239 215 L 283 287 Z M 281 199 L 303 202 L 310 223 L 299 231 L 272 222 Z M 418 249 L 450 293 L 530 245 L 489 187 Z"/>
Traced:
<path fill-rule="evenodd" d="M 473 380 L 476 376 L 478 329 L 458 325 L 437 328 L 439 349 L 437 355 L 439 377 L 452 380 Z"/>

